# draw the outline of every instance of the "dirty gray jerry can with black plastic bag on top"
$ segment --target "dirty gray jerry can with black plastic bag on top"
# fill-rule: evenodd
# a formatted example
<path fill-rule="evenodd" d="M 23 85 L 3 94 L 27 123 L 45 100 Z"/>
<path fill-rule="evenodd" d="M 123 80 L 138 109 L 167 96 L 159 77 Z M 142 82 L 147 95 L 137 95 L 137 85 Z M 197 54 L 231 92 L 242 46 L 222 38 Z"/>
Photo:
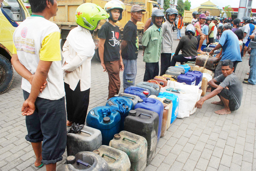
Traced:
<path fill-rule="evenodd" d="M 102 145 L 101 131 L 83 126 L 78 133 L 67 133 L 67 155 L 76 155 L 81 151 L 94 151 Z"/>

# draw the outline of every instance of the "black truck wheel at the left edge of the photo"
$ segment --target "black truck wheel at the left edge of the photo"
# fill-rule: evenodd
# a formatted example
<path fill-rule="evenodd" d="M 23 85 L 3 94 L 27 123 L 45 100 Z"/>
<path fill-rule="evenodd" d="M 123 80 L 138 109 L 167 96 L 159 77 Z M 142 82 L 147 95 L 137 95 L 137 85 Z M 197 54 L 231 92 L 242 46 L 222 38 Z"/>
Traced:
<path fill-rule="evenodd" d="M 0 94 L 3 94 L 10 88 L 13 77 L 11 62 L 0 54 Z"/>

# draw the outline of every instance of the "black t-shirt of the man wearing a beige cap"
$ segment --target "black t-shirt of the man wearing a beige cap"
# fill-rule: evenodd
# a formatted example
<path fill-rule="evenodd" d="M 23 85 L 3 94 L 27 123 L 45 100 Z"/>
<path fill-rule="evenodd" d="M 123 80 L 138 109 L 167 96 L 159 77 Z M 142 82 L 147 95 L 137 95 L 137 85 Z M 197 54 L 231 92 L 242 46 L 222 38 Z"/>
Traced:
<path fill-rule="evenodd" d="M 139 38 L 137 26 L 132 22 L 128 21 L 124 26 L 124 38 L 127 41 L 127 46 L 122 51 L 123 59 L 137 59 L 139 49 Z"/>

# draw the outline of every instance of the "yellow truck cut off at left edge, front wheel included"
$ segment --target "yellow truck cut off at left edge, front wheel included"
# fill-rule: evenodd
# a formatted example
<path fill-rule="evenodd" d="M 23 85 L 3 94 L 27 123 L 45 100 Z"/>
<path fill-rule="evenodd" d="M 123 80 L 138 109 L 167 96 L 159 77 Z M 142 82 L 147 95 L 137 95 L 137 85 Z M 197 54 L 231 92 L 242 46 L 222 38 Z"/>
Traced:
<path fill-rule="evenodd" d="M 0 94 L 10 88 L 13 81 L 12 36 L 19 24 L 29 15 L 22 0 L 4 0 L 0 9 Z"/>

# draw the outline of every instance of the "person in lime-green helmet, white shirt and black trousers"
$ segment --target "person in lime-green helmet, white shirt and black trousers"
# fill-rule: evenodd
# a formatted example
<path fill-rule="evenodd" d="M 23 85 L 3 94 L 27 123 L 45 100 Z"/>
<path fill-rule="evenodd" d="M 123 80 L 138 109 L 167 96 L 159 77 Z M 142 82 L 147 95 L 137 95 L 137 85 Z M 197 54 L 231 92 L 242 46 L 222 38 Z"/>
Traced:
<path fill-rule="evenodd" d="M 97 29 L 100 20 L 109 16 L 99 5 L 84 3 L 76 9 L 75 17 L 78 27 L 69 32 L 62 52 L 67 126 L 85 122 L 91 87 L 91 59 L 95 52 L 90 31 Z"/>

